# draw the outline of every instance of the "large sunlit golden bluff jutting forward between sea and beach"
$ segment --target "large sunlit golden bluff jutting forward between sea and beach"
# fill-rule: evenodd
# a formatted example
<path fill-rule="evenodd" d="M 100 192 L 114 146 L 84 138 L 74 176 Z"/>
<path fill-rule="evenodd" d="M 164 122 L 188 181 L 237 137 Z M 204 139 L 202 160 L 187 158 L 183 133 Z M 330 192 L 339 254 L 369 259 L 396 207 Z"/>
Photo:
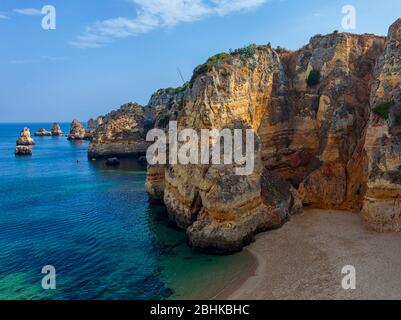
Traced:
<path fill-rule="evenodd" d="M 200 132 L 239 126 L 257 131 L 279 67 L 278 55 L 268 47 L 218 61 L 187 89 L 178 129 Z M 278 190 L 275 198 L 264 195 L 268 184 L 264 177 L 269 173 L 263 168 L 256 140 L 255 170 L 249 176 L 236 175 L 235 165 L 167 167 L 164 203 L 170 218 L 187 229 L 194 248 L 240 250 L 256 232 L 277 227 L 288 218 L 295 190 L 277 178 L 286 191 Z"/>

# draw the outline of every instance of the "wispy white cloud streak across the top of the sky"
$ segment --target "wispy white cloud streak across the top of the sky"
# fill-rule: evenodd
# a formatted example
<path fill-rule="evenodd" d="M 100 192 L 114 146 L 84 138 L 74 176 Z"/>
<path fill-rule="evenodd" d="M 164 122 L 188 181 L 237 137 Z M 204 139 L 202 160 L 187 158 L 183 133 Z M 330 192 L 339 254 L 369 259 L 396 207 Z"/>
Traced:
<path fill-rule="evenodd" d="M 70 42 L 78 48 L 99 48 L 116 38 L 171 28 L 180 23 L 199 21 L 213 15 L 251 10 L 269 0 L 129 0 L 137 8 L 135 18 L 98 21 Z"/>

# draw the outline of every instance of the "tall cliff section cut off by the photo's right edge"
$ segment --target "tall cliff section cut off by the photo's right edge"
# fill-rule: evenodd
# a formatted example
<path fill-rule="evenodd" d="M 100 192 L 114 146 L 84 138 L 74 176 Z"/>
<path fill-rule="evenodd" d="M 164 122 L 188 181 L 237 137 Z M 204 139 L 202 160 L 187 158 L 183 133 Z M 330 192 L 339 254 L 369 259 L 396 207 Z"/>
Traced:
<path fill-rule="evenodd" d="M 401 231 L 401 19 L 389 30 L 375 68 L 365 149 L 368 161 L 363 216 L 377 231 Z"/>

